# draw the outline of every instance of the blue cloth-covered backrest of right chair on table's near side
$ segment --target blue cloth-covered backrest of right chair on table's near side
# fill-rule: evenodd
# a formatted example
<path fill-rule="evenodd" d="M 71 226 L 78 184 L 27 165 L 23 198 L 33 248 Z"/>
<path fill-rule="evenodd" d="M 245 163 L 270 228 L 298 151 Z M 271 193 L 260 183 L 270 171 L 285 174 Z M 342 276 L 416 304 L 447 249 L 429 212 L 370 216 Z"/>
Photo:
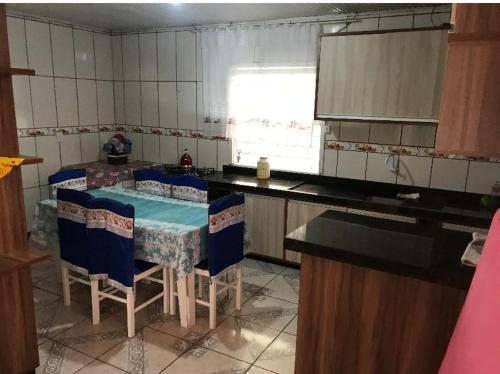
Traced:
<path fill-rule="evenodd" d="M 126 290 L 134 282 L 134 207 L 92 199 L 87 215 L 89 275 Z"/>

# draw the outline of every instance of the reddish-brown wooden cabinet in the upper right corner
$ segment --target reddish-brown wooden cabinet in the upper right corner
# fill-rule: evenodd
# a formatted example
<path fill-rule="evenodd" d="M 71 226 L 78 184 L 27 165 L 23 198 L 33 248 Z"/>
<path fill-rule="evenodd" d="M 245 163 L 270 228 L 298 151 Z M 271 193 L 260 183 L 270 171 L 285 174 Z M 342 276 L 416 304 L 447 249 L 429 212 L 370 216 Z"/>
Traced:
<path fill-rule="evenodd" d="M 449 35 L 436 150 L 500 156 L 499 4 L 457 4 Z"/>

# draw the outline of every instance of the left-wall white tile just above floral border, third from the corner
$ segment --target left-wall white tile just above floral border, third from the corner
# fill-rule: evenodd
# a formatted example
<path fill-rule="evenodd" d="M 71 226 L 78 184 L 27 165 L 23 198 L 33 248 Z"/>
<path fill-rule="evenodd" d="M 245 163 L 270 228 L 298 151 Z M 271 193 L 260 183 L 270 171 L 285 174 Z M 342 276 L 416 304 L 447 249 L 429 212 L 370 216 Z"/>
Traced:
<path fill-rule="evenodd" d="M 55 86 L 58 126 L 78 126 L 76 79 L 55 78 Z"/>

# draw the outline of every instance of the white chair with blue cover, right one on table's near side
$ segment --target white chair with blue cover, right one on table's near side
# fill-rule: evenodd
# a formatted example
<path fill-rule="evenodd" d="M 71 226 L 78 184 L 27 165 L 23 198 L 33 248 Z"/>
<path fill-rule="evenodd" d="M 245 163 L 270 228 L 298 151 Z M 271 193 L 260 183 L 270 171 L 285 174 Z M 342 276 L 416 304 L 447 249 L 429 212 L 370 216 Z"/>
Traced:
<path fill-rule="evenodd" d="M 168 270 L 162 265 L 134 260 L 134 207 L 111 199 L 92 199 L 87 216 L 89 276 L 92 295 L 92 322 L 100 322 L 99 302 L 110 298 L 127 305 L 128 336 L 135 335 L 135 313 L 163 297 L 163 311 L 168 313 Z M 163 271 L 163 279 L 152 275 Z M 160 292 L 135 306 L 135 285 L 141 279 L 163 285 Z M 106 288 L 99 290 L 99 280 Z M 123 291 L 126 297 L 115 295 Z"/>

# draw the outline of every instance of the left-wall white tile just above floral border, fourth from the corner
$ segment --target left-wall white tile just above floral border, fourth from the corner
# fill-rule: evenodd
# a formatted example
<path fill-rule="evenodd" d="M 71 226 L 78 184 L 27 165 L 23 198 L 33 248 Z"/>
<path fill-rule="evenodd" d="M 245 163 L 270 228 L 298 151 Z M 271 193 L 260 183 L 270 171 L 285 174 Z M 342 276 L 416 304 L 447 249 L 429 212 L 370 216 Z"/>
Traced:
<path fill-rule="evenodd" d="M 30 85 L 35 127 L 57 126 L 54 78 L 30 77 Z"/>

